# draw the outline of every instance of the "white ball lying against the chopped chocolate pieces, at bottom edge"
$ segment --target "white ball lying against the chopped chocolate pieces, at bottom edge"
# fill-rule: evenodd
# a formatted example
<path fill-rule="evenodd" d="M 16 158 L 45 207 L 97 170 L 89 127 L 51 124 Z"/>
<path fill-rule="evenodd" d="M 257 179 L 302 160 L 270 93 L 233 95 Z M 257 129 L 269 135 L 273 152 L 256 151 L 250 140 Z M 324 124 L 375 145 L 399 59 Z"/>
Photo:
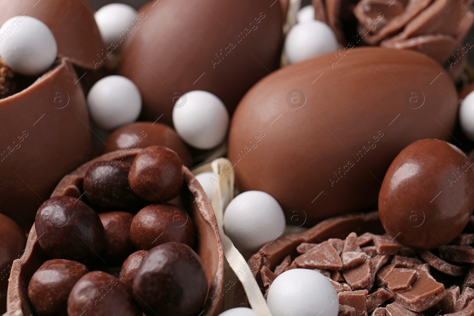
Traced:
<path fill-rule="evenodd" d="M 339 299 L 331 282 L 319 272 L 292 269 L 270 286 L 268 308 L 273 316 L 337 316 Z"/>

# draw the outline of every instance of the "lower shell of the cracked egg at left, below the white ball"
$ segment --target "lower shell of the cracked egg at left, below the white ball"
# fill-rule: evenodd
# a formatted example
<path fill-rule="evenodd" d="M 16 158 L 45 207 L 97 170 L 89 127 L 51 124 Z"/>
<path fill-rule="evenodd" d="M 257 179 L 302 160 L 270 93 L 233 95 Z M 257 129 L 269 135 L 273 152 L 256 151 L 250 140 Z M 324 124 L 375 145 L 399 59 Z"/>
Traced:
<path fill-rule="evenodd" d="M 89 117 L 77 80 L 72 63 L 61 58 L 29 87 L 0 99 L 1 212 L 25 231 L 64 174 L 90 159 Z"/>

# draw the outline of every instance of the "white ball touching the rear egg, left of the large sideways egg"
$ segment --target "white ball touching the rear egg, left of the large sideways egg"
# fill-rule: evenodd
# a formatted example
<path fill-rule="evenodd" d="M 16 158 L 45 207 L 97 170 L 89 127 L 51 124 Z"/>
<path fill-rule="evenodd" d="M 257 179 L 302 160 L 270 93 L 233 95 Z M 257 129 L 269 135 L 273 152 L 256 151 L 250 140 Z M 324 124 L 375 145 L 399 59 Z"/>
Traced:
<path fill-rule="evenodd" d="M 175 104 L 173 125 L 182 140 L 199 149 L 211 149 L 224 141 L 229 113 L 218 97 L 207 91 L 194 90 L 184 94 Z"/>

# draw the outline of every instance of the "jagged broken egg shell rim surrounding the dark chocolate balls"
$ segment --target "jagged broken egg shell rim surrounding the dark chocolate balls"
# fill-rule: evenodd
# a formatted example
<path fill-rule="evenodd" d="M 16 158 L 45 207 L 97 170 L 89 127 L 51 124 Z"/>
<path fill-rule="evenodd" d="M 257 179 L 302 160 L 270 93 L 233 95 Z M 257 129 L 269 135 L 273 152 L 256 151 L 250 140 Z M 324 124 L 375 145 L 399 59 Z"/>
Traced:
<path fill-rule="evenodd" d="M 114 151 L 103 154 L 81 167 L 64 176 L 56 186 L 52 196 L 64 195 L 79 198 L 82 194 L 82 181 L 84 175 L 93 163 L 109 160 L 120 160 L 132 162 L 142 149 L 134 149 L 127 155 L 120 156 L 122 151 Z M 210 206 L 209 199 L 199 182 L 194 178 L 188 168 L 182 167 L 185 185 L 182 190 L 184 205 L 189 209 L 189 214 L 194 221 L 196 240 L 194 250 L 200 256 L 208 280 L 211 295 L 209 295 L 204 306 L 206 312 L 202 316 L 217 316 L 222 310 L 224 287 L 224 256 L 220 242 L 219 228 L 214 211 Z M 193 202 L 194 201 L 194 202 Z M 38 243 L 35 226 L 33 225 L 27 240 L 25 254 L 13 263 L 9 281 L 9 292 L 7 298 L 7 310 L 10 314 L 18 316 L 31 315 L 28 306 L 27 287 L 31 276 L 49 258 Z"/>

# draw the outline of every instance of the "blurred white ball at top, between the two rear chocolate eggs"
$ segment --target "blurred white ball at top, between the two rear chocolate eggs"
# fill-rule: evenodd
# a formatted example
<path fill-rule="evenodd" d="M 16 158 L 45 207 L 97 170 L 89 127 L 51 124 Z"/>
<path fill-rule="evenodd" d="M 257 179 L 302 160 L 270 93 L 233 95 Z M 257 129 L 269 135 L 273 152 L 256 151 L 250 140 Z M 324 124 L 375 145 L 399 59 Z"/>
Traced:
<path fill-rule="evenodd" d="M 136 22 L 137 10 L 127 4 L 110 3 L 95 13 L 95 20 L 99 27 L 100 36 L 104 45 L 120 42 L 120 35 L 132 22 Z M 127 34 L 127 33 L 126 33 Z"/>

